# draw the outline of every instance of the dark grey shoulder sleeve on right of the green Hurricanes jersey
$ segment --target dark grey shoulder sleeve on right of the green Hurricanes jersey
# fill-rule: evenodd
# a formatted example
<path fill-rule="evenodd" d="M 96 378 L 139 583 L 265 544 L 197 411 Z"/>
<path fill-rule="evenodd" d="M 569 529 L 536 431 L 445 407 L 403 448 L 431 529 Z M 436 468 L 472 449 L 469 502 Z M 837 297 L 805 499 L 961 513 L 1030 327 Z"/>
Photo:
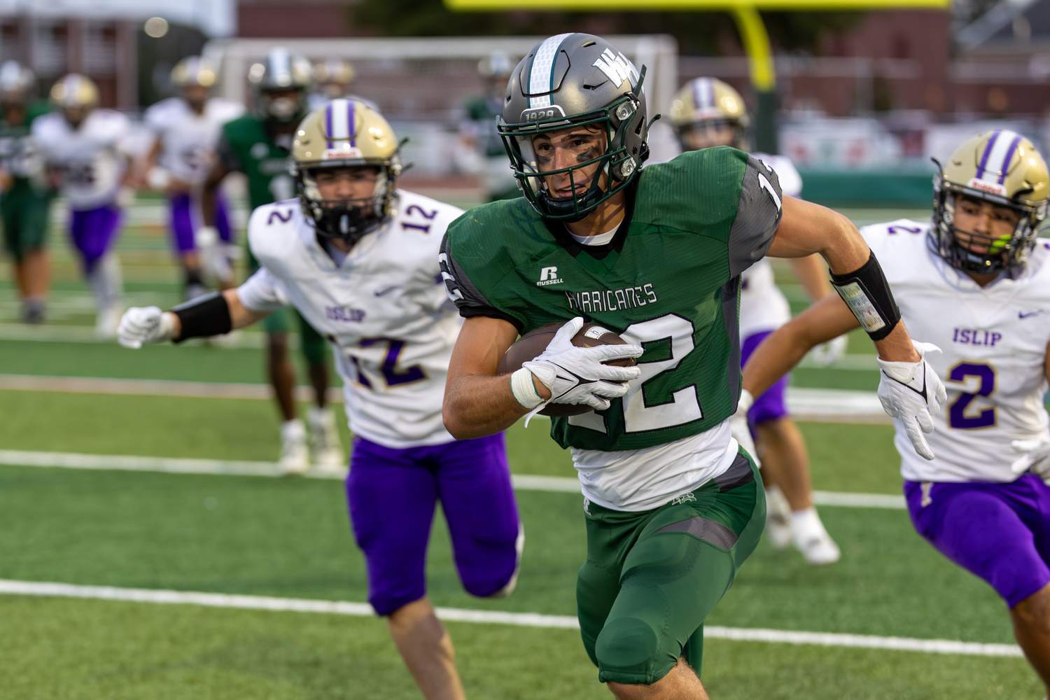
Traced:
<path fill-rule="evenodd" d="M 780 226 L 783 194 L 773 168 L 748 156 L 740 185 L 740 201 L 729 233 L 730 276 L 736 277 L 755 264 L 773 245 Z"/>

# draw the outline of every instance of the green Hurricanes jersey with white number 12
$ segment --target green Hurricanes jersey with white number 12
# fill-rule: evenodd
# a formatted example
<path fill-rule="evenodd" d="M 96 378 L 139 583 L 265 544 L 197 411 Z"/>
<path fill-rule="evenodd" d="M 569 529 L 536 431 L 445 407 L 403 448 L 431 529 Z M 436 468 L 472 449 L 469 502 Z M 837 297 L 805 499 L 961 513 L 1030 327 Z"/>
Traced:
<path fill-rule="evenodd" d="M 709 430 L 740 393 L 739 275 L 780 222 L 776 173 L 732 148 L 645 168 L 606 246 L 581 246 L 525 199 L 494 201 L 448 227 L 442 270 L 465 317 L 527 333 L 583 316 L 642 345 L 642 378 L 604 411 L 554 418 L 562 447 L 618 451 Z"/>

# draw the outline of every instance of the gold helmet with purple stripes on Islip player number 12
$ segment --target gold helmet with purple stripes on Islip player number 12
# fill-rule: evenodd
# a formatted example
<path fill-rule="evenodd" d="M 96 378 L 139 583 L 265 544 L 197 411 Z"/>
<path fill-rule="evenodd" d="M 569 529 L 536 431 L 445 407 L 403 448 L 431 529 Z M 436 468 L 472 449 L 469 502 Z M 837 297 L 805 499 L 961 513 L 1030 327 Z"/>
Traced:
<path fill-rule="evenodd" d="M 324 199 L 316 173 L 324 169 L 375 168 L 376 189 L 362 199 Z M 392 215 L 399 144 L 382 114 L 357 100 L 332 100 L 311 112 L 295 130 L 292 175 L 303 214 L 323 236 L 351 245 Z"/>

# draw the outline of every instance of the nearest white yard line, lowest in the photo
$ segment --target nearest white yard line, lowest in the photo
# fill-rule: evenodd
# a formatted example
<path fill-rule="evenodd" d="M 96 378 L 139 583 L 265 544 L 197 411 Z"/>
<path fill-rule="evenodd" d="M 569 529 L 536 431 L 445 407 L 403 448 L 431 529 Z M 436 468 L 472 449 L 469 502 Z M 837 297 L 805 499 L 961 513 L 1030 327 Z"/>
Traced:
<path fill-rule="evenodd" d="M 0 594 L 34 595 L 62 598 L 90 598 L 154 604 L 190 604 L 207 608 L 234 608 L 272 612 L 322 613 L 329 615 L 371 616 L 372 606 L 364 602 L 341 600 L 309 600 L 302 598 L 274 598 L 258 595 L 229 595 L 225 593 L 198 593 L 192 591 L 163 591 L 110 586 L 75 586 L 46 581 L 19 581 L 0 579 Z M 568 615 L 541 615 L 539 613 L 505 613 L 491 610 L 464 610 L 438 608 L 438 617 L 457 622 L 487 624 L 516 624 L 532 628 L 579 629 L 580 622 Z M 964 654 L 970 656 L 1022 656 L 1014 644 L 982 644 L 951 639 L 916 639 L 910 637 L 878 637 L 874 635 L 838 634 L 830 632 L 794 632 L 790 630 L 760 630 L 746 628 L 705 627 L 704 636 L 711 639 L 733 641 L 759 641 L 786 644 L 816 644 L 821 646 L 854 646 L 927 654 Z"/>

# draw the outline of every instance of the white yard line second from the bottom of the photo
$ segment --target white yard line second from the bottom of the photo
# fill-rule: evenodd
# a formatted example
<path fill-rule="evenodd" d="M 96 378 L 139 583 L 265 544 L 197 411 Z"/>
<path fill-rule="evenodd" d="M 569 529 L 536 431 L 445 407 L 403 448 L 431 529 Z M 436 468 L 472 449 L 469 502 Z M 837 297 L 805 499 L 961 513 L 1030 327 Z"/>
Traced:
<path fill-rule="evenodd" d="M 136 457 L 132 454 L 83 454 L 79 452 L 35 452 L 0 450 L 0 464 L 15 467 L 60 467 L 65 469 L 110 469 L 117 471 L 160 471 L 173 474 L 220 474 L 230 476 L 280 476 L 273 462 L 235 460 L 191 460 L 185 458 Z M 308 479 L 341 480 L 345 474 L 307 472 Z M 580 482 L 570 476 L 511 474 L 513 487 L 520 491 L 551 491 L 580 493 Z M 886 493 L 839 493 L 814 491 L 813 501 L 820 506 L 847 508 L 903 509 L 904 496 Z"/>

